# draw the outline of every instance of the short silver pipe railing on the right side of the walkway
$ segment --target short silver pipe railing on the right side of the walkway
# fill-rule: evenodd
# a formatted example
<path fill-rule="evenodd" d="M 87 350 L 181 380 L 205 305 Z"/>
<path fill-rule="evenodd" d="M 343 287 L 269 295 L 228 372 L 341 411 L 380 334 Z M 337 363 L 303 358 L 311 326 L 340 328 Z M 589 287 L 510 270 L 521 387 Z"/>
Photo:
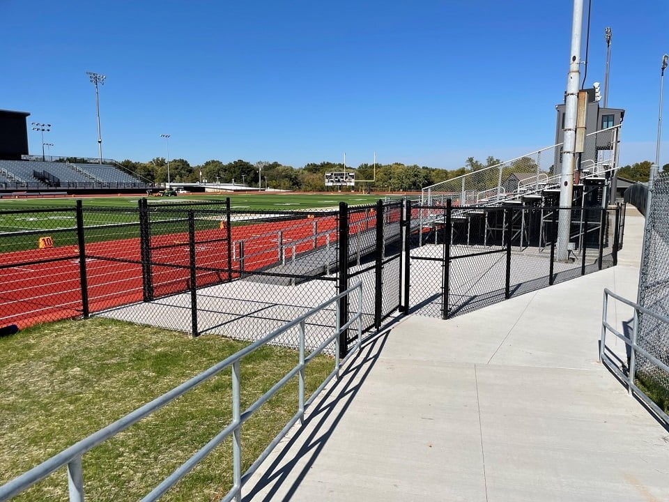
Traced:
<path fill-rule="evenodd" d="M 634 317 L 633 317 L 633 322 L 632 322 L 632 334 L 631 337 L 626 337 L 620 331 L 618 331 L 616 328 L 611 326 L 608 323 L 607 316 L 608 316 L 608 297 L 615 298 L 615 300 L 620 301 L 621 303 L 624 303 L 625 305 L 629 305 L 634 309 Z M 658 321 L 663 322 L 664 324 L 669 324 L 669 317 L 663 316 L 662 314 L 658 314 L 656 312 L 652 312 L 651 310 L 648 310 L 645 307 L 642 307 L 638 303 L 634 303 L 633 301 L 630 301 L 626 298 L 623 298 L 620 295 L 615 294 L 613 291 L 610 291 L 610 289 L 605 288 L 604 289 L 604 300 L 603 300 L 603 307 L 602 307 L 602 312 L 601 312 L 601 342 L 599 344 L 599 360 L 603 365 L 608 367 L 611 371 L 613 371 L 622 381 L 624 381 L 627 384 L 627 391 L 629 395 L 636 395 L 640 400 L 642 400 L 650 409 L 654 411 L 660 418 L 664 420 L 665 423 L 669 423 L 669 415 L 665 413 L 662 409 L 660 409 L 657 404 L 653 402 L 653 400 L 648 397 L 643 390 L 638 388 L 636 386 L 635 379 L 636 379 L 636 357 L 637 354 L 640 354 L 644 358 L 647 358 L 647 360 L 651 361 L 654 365 L 659 367 L 661 370 L 667 372 L 669 374 L 669 366 L 663 363 L 661 360 L 653 356 L 651 353 L 649 353 L 647 350 L 643 349 L 643 347 L 639 347 L 638 345 L 638 330 L 639 330 L 639 314 L 644 314 L 645 316 L 652 317 L 653 319 L 656 319 Z M 620 367 L 615 363 L 615 360 L 608 356 L 606 353 L 606 333 L 610 331 L 613 333 L 615 336 L 620 338 L 623 342 L 625 342 L 627 347 L 630 347 L 630 354 L 629 354 L 629 371 L 627 374 L 625 374 Z"/>

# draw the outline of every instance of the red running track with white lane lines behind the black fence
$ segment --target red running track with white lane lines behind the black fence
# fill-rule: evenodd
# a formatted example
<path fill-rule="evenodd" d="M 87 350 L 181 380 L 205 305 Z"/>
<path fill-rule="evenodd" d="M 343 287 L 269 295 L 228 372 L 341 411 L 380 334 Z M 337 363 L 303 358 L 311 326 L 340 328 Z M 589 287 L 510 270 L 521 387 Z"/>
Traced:
<path fill-rule="evenodd" d="M 397 215 L 396 215 L 397 216 Z M 351 234 L 375 224 L 374 211 L 353 213 L 350 216 Z M 397 220 L 397 218 L 392 218 Z M 282 232 L 286 258 L 314 248 L 314 222 L 319 236 L 316 246 L 327 238 L 337 241 L 337 220 L 334 216 L 263 222 L 231 229 L 233 260 L 231 268 L 240 266 L 238 242 L 245 242 L 245 271 L 251 271 L 279 261 L 278 232 Z M 227 279 L 227 272 L 206 271 L 201 268 L 227 269 L 227 243 L 224 229 L 202 230 L 196 233 L 197 285 L 215 284 Z M 189 250 L 187 234 L 167 234 L 151 237 L 151 275 L 155 297 L 187 291 L 190 287 Z M 86 277 L 88 280 L 89 311 L 98 312 L 111 307 L 142 300 L 142 273 L 139 238 L 103 241 L 86 244 Z M 49 261 L 51 260 L 51 261 Z M 27 264 L 31 261 L 48 261 Z M 16 266 L 11 266 L 15 264 Z M 0 326 L 17 324 L 26 328 L 41 322 L 68 319 L 82 315 L 82 285 L 79 275 L 77 246 L 28 250 L 0 254 L 3 280 L 0 283 Z M 7 267 L 9 266 L 9 267 Z M 233 278 L 238 274 L 233 274 Z"/>

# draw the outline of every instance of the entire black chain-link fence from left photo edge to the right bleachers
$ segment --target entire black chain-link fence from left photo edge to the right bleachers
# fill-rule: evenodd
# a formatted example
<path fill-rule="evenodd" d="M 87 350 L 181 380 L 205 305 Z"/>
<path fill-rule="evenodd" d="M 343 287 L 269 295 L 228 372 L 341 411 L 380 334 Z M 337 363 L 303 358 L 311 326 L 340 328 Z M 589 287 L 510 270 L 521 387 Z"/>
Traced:
<path fill-rule="evenodd" d="M 357 281 L 364 330 L 396 310 L 445 319 L 615 264 L 620 207 L 571 213 L 573 252 L 559 262 L 550 207 L 245 211 L 229 199 L 139 199 L 3 211 L 0 327 L 97 314 L 257 340 Z M 334 309 L 310 319 L 309 348 L 357 311 L 346 302 L 341 319 Z M 354 337 L 343 333 L 342 353 Z M 297 335 L 279 343 L 295 347 Z"/>

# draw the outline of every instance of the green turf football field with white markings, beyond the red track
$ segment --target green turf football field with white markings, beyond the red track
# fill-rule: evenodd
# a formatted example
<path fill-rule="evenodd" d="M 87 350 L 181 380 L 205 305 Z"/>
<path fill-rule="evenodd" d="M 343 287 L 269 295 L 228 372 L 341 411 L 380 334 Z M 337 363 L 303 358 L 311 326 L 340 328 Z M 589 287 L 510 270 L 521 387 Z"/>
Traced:
<path fill-rule="evenodd" d="M 214 229 L 224 220 L 224 206 L 220 204 L 198 206 L 174 206 L 174 203 L 190 201 L 225 200 L 227 196 L 192 195 L 187 197 L 150 197 L 151 234 L 175 234 L 187 231 L 186 211 L 196 208 L 201 211 L 196 216 L 196 229 Z M 295 211 L 307 209 L 336 210 L 340 201 L 351 206 L 373 204 L 376 195 L 346 195 L 323 193 L 305 194 L 244 194 L 231 195 L 233 211 Z M 75 213 L 76 197 L 59 199 L 0 199 L 0 252 L 13 252 L 36 248 L 38 238 L 49 236 L 56 247 L 76 245 Z M 139 197 L 84 197 L 84 227 L 86 243 L 114 241 L 122 238 L 139 237 Z M 183 211 L 161 212 L 160 208 Z M 15 213 L 13 211 L 26 211 Z M 48 211 L 43 211 L 48 210 Z M 63 211 L 65 210 L 65 211 Z M 203 213 L 206 211 L 206 213 Z M 161 225 L 156 225 L 162 221 Z M 254 222 L 256 220 L 251 220 Z M 245 225 L 234 222 L 233 225 Z"/>

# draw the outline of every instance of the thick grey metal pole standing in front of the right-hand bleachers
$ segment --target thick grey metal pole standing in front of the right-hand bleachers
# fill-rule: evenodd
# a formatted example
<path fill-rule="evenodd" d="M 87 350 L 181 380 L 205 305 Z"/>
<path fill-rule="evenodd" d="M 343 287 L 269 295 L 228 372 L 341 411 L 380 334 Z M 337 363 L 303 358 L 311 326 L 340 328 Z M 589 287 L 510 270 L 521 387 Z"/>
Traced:
<path fill-rule="evenodd" d="M 571 200 L 574 195 L 574 164 L 576 155 L 576 109 L 578 108 L 578 83 L 580 81 L 580 35 L 583 28 L 583 0 L 574 0 L 571 20 L 571 51 L 567 93 L 564 97 L 564 143 L 562 146 L 562 172 L 560 176 L 560 218 L 557 222 L 557 259 L 569 258 L 569 231 L 571 228 Z"/>

